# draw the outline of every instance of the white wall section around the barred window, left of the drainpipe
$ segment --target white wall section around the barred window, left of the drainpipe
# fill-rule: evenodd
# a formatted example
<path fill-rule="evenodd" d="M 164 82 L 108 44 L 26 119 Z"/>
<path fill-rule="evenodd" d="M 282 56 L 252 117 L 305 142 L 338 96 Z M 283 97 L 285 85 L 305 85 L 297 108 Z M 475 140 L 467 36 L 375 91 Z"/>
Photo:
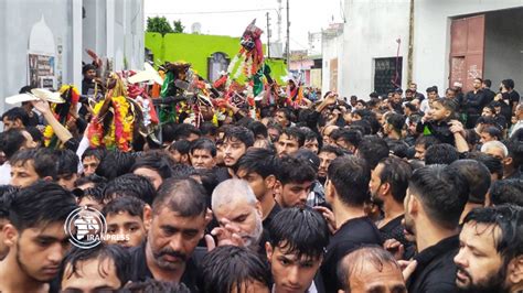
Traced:
<path fill-rule="evenodd" d="M 417 1 L 417 0 L 416 0 Z M 367 99 L 374 90 L 374 58 L 403 56 L 403 87 L 406 85 L 409 1 L 345 0 L 343 62 L 340 94 Z"/>

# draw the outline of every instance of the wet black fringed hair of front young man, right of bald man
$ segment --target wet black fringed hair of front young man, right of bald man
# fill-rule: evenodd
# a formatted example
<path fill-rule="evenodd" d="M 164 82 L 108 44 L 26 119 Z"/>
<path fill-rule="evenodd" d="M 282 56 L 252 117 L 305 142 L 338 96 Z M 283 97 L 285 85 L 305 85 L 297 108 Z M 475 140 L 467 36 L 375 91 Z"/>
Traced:
<path fill-rule="evenodd" d="M 329 227 L 320 213 L 312 208 L 286 208 L 270 221 L 269 243 L 298 259 L 319 259 L 329 243 Z"/>

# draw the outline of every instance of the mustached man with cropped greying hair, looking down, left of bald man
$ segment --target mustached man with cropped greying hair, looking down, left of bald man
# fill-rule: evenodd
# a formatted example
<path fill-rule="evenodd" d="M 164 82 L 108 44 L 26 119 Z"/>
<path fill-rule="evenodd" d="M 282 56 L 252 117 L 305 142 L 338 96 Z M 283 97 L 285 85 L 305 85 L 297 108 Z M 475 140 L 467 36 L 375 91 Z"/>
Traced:
<path fill-rule="evenodd" d="M 205 189 L 194 180 L 164 181 L 152 207 L 143 210 L 148 235 L 146 242 L 130 251 L 131 281 L 151 278 L 184 283 L 194 291 L 200 256 L 195 249 L 209 223 L 206 209 Z"/>

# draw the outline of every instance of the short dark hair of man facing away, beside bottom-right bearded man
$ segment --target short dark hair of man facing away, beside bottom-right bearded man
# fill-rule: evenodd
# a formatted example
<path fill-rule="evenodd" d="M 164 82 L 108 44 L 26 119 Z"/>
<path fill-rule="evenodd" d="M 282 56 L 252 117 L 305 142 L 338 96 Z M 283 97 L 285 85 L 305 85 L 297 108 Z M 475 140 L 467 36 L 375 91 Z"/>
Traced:
<path fill-rule="evenodd" d="M 458 169 L 428 165 L 414 171 L 408 188 L 416 195 L 433 223 L 456 229 L 469 197 L 467 178 Z"/>

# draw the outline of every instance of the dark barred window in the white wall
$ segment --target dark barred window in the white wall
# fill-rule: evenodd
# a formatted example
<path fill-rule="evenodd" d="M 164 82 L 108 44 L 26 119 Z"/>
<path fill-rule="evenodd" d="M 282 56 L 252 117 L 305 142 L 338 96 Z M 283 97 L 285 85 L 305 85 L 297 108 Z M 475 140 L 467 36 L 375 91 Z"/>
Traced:
<path fill-rule="evenodd" d="M 374 59 L 374 91 L 386 96 L 388 91 L 402 87 L 403 57 Z"/>

